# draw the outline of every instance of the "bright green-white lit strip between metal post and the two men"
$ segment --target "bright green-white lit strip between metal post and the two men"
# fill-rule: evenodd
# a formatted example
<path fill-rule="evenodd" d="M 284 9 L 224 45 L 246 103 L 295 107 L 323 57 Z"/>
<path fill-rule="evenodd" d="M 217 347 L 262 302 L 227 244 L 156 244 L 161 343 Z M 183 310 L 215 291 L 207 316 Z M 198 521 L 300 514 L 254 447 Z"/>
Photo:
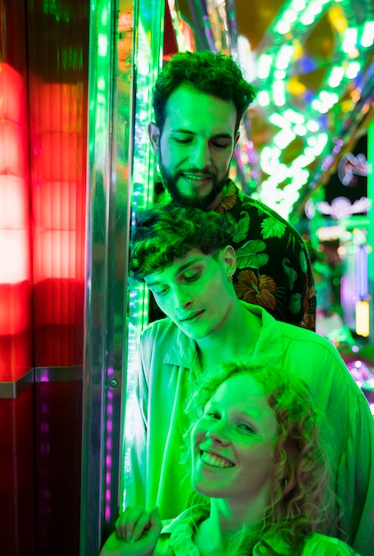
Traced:
<path fill-rule="evenodd" d="M 155 78 L 163 62 L 163 2 L 139 0 L 136 3 L 137 36 L 134 46 L 136 74 L 134 87 L 133 153 L 131 165 L 131 222 L 138 210 L 153 203 L 155 193 L 155 156 L 147 136 L 147 124 L 152 120 L 151 96 Z M 123 421 L 123 469 L 120 502 L 123 506 L 128 476 L 127 441 L 131 438 L 134 367 L 139 333 L 147 324 L 148 292 L 144 284 L 129 280 L 129 329 L 127 358 L 127 404 Z M 126 364 L 126 363 L 125 363 Z M 124 397 L 124 396 L 123 396 Z"/>

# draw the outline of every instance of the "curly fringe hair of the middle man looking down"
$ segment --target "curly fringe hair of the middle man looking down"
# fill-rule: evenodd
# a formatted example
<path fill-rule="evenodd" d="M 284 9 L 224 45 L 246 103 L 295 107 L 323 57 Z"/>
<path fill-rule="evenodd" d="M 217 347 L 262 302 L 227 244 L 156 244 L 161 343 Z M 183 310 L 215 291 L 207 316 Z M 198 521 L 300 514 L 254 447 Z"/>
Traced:
<path fill-rule="evenodd" d="M 227 223 L 217 212 L 175 204 L 155 205 L 139 212 L 133 226 L 131 275 L 144 282 L 147 274 L 162 272 L 191 249 L 218 258 L 219 250 L 230 243 Z"/>

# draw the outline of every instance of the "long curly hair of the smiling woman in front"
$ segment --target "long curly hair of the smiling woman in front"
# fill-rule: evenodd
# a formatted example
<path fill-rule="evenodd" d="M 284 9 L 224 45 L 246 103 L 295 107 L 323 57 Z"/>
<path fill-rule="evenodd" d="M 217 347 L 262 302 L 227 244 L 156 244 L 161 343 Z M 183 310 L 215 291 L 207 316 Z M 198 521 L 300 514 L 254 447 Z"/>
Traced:
<path fill-rule="evenodd" d="M 271 499 L 258 528 L 246 533 L 246 550 L 250 551 L 265 534 L 282 535 L 292 553 L 297 554 L 314 531 L 330 534 L 337 504 L 330 466 L 320 441 L 323 416 L 306 383 L 282 369 L 231 363 L 199 379 L 187 401 L 187 414 L 193 425 L 219 385 L 243 373 L 250 373 L 263 385 L 269 407 L 275 411 L 278 435 Z M 192 425 L 185 435 L 188 442 Z M 187 458 L 189 461 L 189 447 L 184 460 Z M 201 495 L 192 496 L 191 502 L 193 499 L 207 502 Z M 243 546 L 243 539 L 240 544 Z"/>

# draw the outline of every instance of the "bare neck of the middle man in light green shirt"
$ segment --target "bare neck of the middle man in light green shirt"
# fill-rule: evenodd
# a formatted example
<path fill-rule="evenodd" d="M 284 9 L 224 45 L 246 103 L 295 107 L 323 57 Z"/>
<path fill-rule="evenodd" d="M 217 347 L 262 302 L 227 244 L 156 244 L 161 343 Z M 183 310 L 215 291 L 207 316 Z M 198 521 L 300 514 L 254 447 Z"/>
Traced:
<path fill-rule="evenodd" d="M 196 340 L 202 369 L 245 359 L 259 336 L 261 322 L 235 298 L 224 324 L 210 336 Z"/>

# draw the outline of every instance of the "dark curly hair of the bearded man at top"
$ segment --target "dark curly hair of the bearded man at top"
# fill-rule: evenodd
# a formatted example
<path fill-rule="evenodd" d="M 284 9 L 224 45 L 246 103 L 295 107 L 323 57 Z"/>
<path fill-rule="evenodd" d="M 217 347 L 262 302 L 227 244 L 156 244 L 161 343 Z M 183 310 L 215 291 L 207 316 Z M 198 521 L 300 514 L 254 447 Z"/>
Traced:
<path fill-rule="evenodd" d="M 179 52 L 160 72 L 153 91 L 155 123 L 163 131 L 165 106 L 171 93 L 182 83 L 189 83 L 197 91 L 205 92 L 235 104 L 235 132 L 239 129 L 245 110 L 256 96 L 256 91 L 243 78 L 241 68 L 231 56 L 210 51 Z"/>

